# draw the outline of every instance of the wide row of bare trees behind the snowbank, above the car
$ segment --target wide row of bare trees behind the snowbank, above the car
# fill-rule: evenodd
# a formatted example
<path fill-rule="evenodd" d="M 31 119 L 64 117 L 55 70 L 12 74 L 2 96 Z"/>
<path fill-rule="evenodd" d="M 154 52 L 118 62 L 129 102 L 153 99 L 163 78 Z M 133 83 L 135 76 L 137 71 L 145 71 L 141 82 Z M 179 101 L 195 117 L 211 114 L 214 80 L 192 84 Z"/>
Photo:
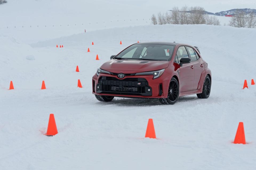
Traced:
<path fill-rule="evenodd" d="M 220 25 L 216 16 L 205 15 L 203 7 L 190 7 L 187 6 L 179 9 L 174 7 L 172 11 L 161 14 L 159 12 L 157 16 L 153 14 L 151 16 L 151 22 L 156 24 L 209 24 Z"/>

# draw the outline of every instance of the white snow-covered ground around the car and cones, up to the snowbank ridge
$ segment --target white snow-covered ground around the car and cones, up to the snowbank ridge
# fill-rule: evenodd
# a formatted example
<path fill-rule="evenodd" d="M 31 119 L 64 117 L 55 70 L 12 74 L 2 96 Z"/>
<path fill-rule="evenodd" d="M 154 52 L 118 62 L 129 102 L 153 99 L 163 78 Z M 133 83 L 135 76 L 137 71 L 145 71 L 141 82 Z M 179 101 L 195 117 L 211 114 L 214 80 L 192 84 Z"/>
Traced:
<path fill-rule="evenodd" d="M 255 169 L 255 30 L 125 26 L 80 34 L 76 27 L 58 28 L 58 34 L 56 27 L 1 29 L 0 169 Z M 175 105 L 97 101 L 91 94 L 96 69 L 137 41 L 198 46 L 212 71 L 210 97 L 184 96 Z M 83 88 L 77 88 L 78 79 Z M 245 79 L 249 89 L 242 90 Z M 8 90 L 11 80 L 14 90 Z M 43 135 L 50 113 L 59 132 L 53 137 Z M 158 139 L 144 138 L 149 118 Z M 232 144 L 241 121 L 248 144 Z"/>

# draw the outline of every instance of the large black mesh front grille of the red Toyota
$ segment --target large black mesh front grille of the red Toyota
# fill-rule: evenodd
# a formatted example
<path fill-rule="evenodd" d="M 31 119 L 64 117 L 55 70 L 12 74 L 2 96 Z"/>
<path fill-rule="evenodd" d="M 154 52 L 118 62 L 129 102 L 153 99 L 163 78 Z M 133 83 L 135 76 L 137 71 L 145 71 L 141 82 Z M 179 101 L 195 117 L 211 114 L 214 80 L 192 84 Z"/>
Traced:
<path fill-rule="evenodd" d="M 124 78 L 122 80 L 115 77 L 102 76 L 99 78 L 102 93 L 106 94 L 126 94 L 150 96 L 147 91 L 151 88 L 145 78 Z"/>

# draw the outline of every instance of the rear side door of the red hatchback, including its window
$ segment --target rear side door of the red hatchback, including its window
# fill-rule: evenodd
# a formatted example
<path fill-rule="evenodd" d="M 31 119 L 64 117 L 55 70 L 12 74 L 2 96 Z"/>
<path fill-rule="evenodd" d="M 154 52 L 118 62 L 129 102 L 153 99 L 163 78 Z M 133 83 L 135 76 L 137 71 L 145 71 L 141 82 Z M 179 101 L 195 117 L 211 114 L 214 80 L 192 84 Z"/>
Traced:
<path fill-rule="evenodd" d="M 193 82 L 193 84 L 194 84 L 193 90 L 200 89 L 201 86 L 199 86 L 198 84 L 199 84 L 199 81 L 201 78 L 201 74 L 204 70 L 203 61 L 193 48 L 188 47 L 188 46 L 186 46 L 186 48 L 187 48 L 187 51 L 189 52 L 189 55 L 191 58 L 191 64 L 193 64 L 194 72 L 195 72 L 195 78 L 194 78 L 194 82 Z"/>

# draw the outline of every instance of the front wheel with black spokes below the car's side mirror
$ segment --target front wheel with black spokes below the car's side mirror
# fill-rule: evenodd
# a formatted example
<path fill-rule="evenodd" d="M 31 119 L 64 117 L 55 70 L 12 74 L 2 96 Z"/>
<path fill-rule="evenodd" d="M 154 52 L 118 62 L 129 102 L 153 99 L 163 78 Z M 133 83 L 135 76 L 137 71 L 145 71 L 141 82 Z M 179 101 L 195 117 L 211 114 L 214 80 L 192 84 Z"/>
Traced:
<path fill-rule="evenodd" d="M 163 105 L 173 105 L 177 102 L 179 98 L 179 83 L 176 78 L 171 78 L 169 88 L 168 88 L 168 97 L 159 98 L 160 103 Z"/>

